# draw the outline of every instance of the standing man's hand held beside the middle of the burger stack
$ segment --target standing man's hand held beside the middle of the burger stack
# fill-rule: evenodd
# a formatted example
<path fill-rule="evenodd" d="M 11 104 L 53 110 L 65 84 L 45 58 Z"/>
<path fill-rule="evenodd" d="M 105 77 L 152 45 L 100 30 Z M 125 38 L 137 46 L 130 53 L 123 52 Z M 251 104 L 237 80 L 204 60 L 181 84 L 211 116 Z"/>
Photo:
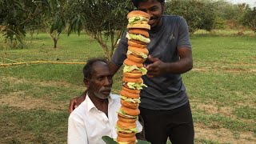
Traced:
<path fill-rule="evenodd" d="M 162 62 L 159 58 L 152 58 L 150 55 L 148 57 L 148 60 L 153 63 L 146 66 L 146 70 L 148 70 L 146 73 L 147 77 L 153 78 L 164 73 L 164 62 Z"/>

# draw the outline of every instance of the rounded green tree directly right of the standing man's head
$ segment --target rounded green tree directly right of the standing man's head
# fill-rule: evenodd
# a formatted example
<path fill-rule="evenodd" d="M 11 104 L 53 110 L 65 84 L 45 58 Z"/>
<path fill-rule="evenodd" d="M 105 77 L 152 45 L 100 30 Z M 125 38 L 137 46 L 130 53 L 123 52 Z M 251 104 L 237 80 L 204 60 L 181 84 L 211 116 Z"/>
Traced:
<path fill-rule="evenodd" d="M 201 2 L 198 0 L 167 1 L 166 14 L 184 17 L 192 34 L 198 29 L 213 30 L 216 19 L 212 2 Z"/>

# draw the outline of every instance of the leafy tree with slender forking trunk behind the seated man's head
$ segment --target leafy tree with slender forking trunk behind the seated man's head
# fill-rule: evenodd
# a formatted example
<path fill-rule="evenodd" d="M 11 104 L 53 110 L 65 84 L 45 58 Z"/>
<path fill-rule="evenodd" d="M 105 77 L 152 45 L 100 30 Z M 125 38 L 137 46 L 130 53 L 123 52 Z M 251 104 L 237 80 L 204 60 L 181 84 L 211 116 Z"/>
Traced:
<path fill-rule="evenodd" d="M 86 30 L 98 41 L 106 58 L 110 60 L 118 39 L 126 29 L 126 14 L 133 10 L 130 0 L 75 0 L 70 2 L 69 6 L 73 13 L 68 14 L 73 15 L 68 16 L 68 34 L 73 31 L 79 34 L 82 29 Z"/>

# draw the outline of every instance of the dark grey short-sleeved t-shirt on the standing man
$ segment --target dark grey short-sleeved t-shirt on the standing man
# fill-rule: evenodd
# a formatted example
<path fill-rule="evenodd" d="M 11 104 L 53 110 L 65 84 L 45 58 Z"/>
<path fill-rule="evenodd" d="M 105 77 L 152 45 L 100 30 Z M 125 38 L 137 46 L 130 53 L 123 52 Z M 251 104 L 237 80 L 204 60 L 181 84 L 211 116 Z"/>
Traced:
<path fill-rule="evenodd" d="M 162 62 L 177 62 L 178 48 L 191 48 L 189 30 L 186 20 L 179 16 L 162 16 L 162 26 L 158 30 L 150 30 L 150 43 L 147 46 L 153 58 Z M 118 44 L 117 50 L 111 59 L 117 66 L 122 66 L 127 52 L 126 31 Z M 145 65 L 150 62 L 144 62 Z M 140 93 L 139 106 L 150 110 L 171 110 L 183 106 L 188 102 L 186 88 L 182 83 L 181 74 L 164 74 L 155 78 L 142 76 L 144 87 Z"/>

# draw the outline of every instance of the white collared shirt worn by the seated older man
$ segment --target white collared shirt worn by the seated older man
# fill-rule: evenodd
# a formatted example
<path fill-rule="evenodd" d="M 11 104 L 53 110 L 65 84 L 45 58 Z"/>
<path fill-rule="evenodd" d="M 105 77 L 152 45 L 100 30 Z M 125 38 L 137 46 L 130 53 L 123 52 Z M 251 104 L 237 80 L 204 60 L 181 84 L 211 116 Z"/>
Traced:
<path fill-rule="evenodd" d="M 67 143 L 106 144 L 102 136 L 117 138 L 115 125 L 118 121 L 117 111 L 121 106 L 120 97 L 110 94 L 108 100 L 108 117 L 106 117 L 106 114 L 98 110 L 86 95 L 85 101 L 70 114 Z M 138 121 L 137 128 L 138 132 L 142 131 L 142 125 Z"/>

